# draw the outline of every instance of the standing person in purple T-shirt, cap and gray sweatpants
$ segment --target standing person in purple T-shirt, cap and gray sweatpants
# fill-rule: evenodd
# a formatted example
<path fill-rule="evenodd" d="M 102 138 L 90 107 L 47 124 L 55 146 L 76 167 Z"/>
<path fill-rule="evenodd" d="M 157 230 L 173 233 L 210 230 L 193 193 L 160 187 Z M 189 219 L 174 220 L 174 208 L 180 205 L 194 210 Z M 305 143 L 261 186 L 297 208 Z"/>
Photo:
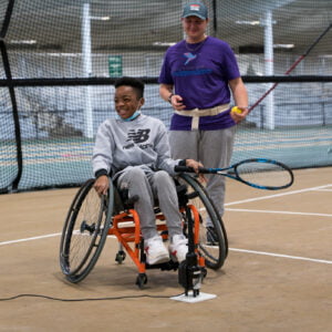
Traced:
<path fill-rule="evenodd" d="M 248 93 L 231 48 L 206 35 L 208 23 L 204 3 L 194 1 L 184 7 L 186 39 L 165 54 L 159 93 L 174 108 L 172 156 L 221 168 L 230 163 L 236 124 L 248 114 Z M 239 112 L 230 110 L 231 95 Z M 222 216 L 225 179 L 216 175 L 207 178 L 207 191 Z"/>

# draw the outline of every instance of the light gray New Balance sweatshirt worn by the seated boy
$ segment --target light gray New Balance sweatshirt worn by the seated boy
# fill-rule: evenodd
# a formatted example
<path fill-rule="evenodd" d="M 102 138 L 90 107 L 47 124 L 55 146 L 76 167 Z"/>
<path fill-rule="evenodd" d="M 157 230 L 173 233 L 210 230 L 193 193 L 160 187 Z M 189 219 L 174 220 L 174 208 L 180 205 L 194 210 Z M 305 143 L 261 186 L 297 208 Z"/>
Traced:
<path fill-rule="evenodd" d="M 170 158 L 166 126 L 158 118 L 141 114 L 133 121 L 108 118 L 98 127 L 93 149 L 93 173 L 105 170 L 116 177 L 131 166 L 164 169 L 175 175 L 180 159 Z"/>

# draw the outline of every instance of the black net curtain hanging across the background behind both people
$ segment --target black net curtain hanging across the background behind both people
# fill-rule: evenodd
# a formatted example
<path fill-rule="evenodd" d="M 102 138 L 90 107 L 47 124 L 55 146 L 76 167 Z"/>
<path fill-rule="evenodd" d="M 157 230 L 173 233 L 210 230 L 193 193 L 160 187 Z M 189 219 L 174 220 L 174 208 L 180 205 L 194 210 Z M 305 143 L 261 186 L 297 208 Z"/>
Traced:
<path fill-rule="evenodd" d="M 186 2 L 0 2 L 0 193 L 91 177 L 94 135 L 115 113 L 116 77 L 145 81 L 143 112 L 168 126 L 157 77 L 165 51 L 184 38 Z M 204 2 L 207 33 L 234 49 L 253 106 L 238 126 L 232 162 L 331 166 L 331 0 Z"/>

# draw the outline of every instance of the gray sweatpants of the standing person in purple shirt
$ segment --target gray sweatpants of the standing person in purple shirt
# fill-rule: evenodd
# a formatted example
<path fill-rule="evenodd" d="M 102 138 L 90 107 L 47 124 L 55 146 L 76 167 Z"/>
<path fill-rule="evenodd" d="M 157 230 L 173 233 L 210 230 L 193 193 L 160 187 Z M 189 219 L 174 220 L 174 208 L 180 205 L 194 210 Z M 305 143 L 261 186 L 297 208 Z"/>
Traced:
<path fill-rule="evenodd" d="M 196 159 L 205 167 L 221 168 L 229 166 L 236 126 L 219 131 L 170 131 L 172 157 L 175 159 Z M 224 215 L 225 177 L 207 175 L 207 193 Z"/>

